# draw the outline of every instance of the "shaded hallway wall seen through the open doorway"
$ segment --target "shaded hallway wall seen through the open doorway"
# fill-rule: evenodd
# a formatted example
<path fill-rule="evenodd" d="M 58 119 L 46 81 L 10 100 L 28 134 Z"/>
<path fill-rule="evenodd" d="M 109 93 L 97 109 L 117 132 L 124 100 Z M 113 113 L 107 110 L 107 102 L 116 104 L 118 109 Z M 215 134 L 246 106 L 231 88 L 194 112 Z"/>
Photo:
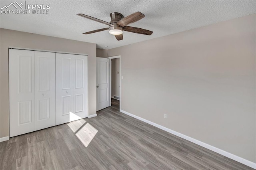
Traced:
<path fill-rule="evenodd" d="M 120 83 L 120 74 L 119 74 L 119 64 L 120 64 L 120 59 L 115 58 L 111 59 L 112 64 L 112 70 L 111 70 L 111 96 L 113 97 L 114 95 L 120 97 L 120 89 L 119 89 L 119 83 Z"/>

